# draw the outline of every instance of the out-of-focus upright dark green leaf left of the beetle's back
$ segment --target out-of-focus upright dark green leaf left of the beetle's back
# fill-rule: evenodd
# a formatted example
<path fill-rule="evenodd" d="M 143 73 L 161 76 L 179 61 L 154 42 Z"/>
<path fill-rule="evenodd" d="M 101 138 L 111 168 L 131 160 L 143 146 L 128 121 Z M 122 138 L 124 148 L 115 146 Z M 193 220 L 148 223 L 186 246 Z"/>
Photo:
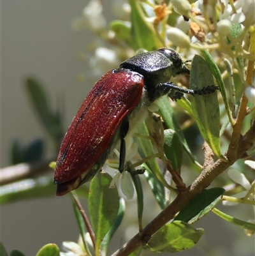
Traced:
<path fill-rule="evenodd" d="M 48 95 L 40 82 L 29 77 L 25 86 L 33 107 L 36 110 L 38 116 L 41 119 L 42 124 L 45 126 L 45 129 L 48 132 L 48 135 L 54 141 L 55 147 L 59 149 L 59 144 L 64 135 L 64 130 L 62 127 L 61 116 L 59 112 L 54 112 L 50 103 L 48 101 Z"/>

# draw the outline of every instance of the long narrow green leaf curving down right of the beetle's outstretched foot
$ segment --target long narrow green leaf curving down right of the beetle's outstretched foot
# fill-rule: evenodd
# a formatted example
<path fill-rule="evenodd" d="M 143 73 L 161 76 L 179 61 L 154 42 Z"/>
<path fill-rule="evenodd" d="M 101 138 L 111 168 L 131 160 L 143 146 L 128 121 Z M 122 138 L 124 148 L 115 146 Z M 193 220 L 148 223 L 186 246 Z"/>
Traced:
<path fill-rule="evenodd" d="M 215 63 L 214 59 L 212 58 L 212 56 L 209 54 L 209 52 L 207 50 L 201 50 L 201 54 L 203 54 L 203 57 L 205 58 L 205 62 L 207 63 L 208 67 L 210 68 L 210 72 L 212 72 L 212 75 L 214 75 L 214 77 L 217 81 L 217 85 L 221 89 L 221 95 L 222 95 L 222 98 L 224 101 L 225 108 L 228 113 L 228 118 L 230 119 L 230 123 L 233 124 L 234 121 L 233 121 L 233 118 L 231 115 L 230 106 L 228 105 L 228 98 L 227 98 L 224 82 L 221 77 L 221 72 L 220 72 L 217 64 Z M 206 86 L 206 85 L 210 85 L 210 84 L 204 84 L 203 86 Z"/>

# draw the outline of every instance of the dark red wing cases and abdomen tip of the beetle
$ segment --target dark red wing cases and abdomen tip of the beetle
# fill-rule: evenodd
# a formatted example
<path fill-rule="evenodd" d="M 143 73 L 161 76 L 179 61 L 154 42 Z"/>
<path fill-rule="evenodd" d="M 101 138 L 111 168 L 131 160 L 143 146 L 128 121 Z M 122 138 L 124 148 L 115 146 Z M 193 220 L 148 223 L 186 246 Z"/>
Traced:
<path fill-rule="evenodd" d="M 114 133 L 140 101 L 143 84 L 139 73 L 119 69 L 94 85 L 62 140 L 54 173 L 57 195 L 89 181 L 102 167 Z"/>

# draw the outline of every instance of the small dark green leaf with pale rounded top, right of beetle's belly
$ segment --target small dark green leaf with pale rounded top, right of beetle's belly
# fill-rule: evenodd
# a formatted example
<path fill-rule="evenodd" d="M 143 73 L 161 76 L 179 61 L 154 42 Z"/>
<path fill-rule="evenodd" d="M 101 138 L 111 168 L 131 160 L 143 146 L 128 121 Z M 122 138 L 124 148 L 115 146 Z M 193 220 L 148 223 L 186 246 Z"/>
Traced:
<path fill-rule="evenodd" d="M 180 174 L 182 166 L 182 143 L 174 130 L 164 130 L 164 153 L 173 169 Z"/>

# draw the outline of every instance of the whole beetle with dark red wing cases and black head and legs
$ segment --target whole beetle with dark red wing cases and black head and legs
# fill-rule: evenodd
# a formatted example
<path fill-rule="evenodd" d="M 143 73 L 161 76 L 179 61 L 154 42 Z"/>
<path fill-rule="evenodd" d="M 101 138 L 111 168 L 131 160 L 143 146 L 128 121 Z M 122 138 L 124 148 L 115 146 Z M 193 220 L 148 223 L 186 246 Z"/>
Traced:
<path fill-rule="evenodd" d="M 120 142 L 119 171 L 123 172 L 126 141 L 147 117 L 148 107 L 168 94 L 213 93 L 216 86 L 198 91 L 168 82 L 190 71 L 172 49 L 144 52 L 127 59 L 96 82 L 64 136 L 57 156 L 54 183 L 64 195 L 92 179 Z"/>

